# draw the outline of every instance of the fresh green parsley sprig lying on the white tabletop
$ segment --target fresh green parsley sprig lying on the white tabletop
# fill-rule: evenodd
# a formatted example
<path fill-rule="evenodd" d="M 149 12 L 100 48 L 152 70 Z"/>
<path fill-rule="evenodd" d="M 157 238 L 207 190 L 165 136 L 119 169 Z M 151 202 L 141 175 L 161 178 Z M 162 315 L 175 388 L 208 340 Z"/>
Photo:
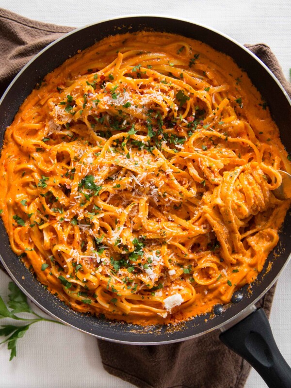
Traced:
<path fill-rule="evenodd" d="M 27 298 L 24 293 L 16 286 L 14 282 L 10 282 L 8 285 L 10 294 L 8 295 L 8 307 L 5 305 L 3 299 L 0 296 L 0 319 L 11 318 L 16 321 L 25 321 L 26 323 L 20 326 L 13 324 L 4 324 L 0 326 L 0 336 L 6 337 L 1 343 L 7 343 L 7 348 L 11 351 L 9 361 L 16 356 L 16 344 L 19 338 L 22 338 L 27 332 L 29 327 L 36 322 L 47 321 L 61 323 L 41 317 L 32 311 L 31 307 L 27 303 Z M 17 313 L 25 312 L 33 314 L 36 318 L 21 318 Z M 63 323 L 61 323 L 63 324 Z"/>

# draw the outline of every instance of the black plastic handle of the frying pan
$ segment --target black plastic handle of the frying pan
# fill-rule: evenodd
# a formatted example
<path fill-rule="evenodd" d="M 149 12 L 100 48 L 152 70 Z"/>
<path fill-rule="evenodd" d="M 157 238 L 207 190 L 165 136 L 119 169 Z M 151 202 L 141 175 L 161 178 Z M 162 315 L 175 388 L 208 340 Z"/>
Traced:
<path fill-rule="evenodd" d="M 219 338 L 248 361 L 269 388 L 291 388 L 291 368 L 275 343 L 262 308 L 221 333 Z"/>

